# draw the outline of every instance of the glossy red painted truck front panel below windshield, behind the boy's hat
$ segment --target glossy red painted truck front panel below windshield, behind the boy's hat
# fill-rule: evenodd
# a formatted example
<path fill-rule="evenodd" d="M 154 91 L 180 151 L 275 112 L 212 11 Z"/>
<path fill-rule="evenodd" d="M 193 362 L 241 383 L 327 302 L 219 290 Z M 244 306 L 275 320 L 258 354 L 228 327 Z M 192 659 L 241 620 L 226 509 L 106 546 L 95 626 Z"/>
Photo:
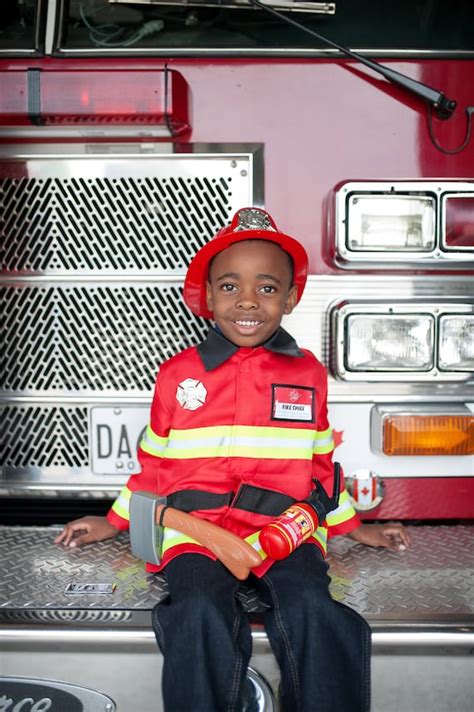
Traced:
<path fill-rule="evenodd" d="M 426 105 L 356 62 L 183 58 L 167 63 L 190 88 L 189 140 L 265 145 L 266 206 L 283 230 L 305 244 L 313 273 L 337 272 L 325 263 L 322 245 L 326 201 L 341 181 L 473 177 L 474 137 L 457 155 L 441 153 L 429 138 Z M 458 102 L 451 119 L 434 119 L 434 130 L 447 148 L 460 144 L 464 108 L 474 105 L 474 61 L 383 63 Z M 62 58 L 3 60 L 0 69 L 130 71 L 164 65 L 162 59 Z"/>

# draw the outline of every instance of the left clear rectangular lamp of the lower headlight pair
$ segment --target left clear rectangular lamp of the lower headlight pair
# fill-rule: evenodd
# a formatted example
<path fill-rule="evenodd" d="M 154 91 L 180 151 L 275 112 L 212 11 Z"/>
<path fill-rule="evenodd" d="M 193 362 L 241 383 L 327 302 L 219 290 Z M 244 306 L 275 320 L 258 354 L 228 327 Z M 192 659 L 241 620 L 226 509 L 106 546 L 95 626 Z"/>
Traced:
<path fill-rule="evenodd" d="M 350 371 L 429 371 L 434 320 L 428 315 L 354 315 L 346 324 Z"/>

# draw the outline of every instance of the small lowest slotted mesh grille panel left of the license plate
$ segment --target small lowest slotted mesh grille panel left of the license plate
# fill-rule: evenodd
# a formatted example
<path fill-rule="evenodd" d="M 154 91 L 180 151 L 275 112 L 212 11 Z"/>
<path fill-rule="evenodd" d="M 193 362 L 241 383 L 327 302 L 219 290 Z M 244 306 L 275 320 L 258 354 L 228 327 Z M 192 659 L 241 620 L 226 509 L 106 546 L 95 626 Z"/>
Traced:
<path fill-rule="evenodd" d="M 1 462 L 11 467 L 88 464 L 87 408 L 5 406 L 0 409 Z"/>

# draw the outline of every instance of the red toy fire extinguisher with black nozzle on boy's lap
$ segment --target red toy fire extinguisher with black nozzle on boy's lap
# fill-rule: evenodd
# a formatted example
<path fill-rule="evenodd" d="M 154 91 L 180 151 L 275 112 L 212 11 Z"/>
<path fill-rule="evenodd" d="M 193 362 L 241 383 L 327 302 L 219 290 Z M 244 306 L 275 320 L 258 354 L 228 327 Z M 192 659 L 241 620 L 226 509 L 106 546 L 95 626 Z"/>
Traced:
<path fill-rule="evenodd" d="M 295 502 L 277 519 L 263 527 L 258 539 L 267 556 L 271 559 L 285 559 L 316 531 L 328 512 L 337 508 L 340 471 L 340 464 L 335 462 L 332 497 L 328 497 L 322 484 L 314 480 L 315 489 L 307 499 Z"/>

